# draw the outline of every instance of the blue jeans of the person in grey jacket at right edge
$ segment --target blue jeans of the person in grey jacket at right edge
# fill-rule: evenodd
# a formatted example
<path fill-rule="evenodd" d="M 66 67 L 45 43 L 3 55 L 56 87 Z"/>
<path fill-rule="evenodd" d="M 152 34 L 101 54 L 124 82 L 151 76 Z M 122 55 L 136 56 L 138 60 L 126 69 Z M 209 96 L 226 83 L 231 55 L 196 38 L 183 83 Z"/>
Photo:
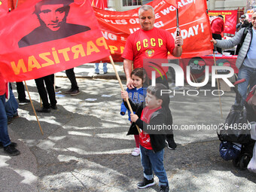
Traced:
<path fill-rule="evenodd" d="M 250 90 L 256 84 L 256 69 L 253 69 L 247 66 L 241 66 L 238 72 L 237 81 L 241 80 L 242 78 L 245 78 L 246 81 L 241 84 L 238 84 L 238 91 L 242 96 L 241 104 L 244 104 L 247 96 L 248 84 L 250 85 L 249 87 Z M 236 104 L 239 104 L 239 103 L 237 103 L 236 101 Z"/>

